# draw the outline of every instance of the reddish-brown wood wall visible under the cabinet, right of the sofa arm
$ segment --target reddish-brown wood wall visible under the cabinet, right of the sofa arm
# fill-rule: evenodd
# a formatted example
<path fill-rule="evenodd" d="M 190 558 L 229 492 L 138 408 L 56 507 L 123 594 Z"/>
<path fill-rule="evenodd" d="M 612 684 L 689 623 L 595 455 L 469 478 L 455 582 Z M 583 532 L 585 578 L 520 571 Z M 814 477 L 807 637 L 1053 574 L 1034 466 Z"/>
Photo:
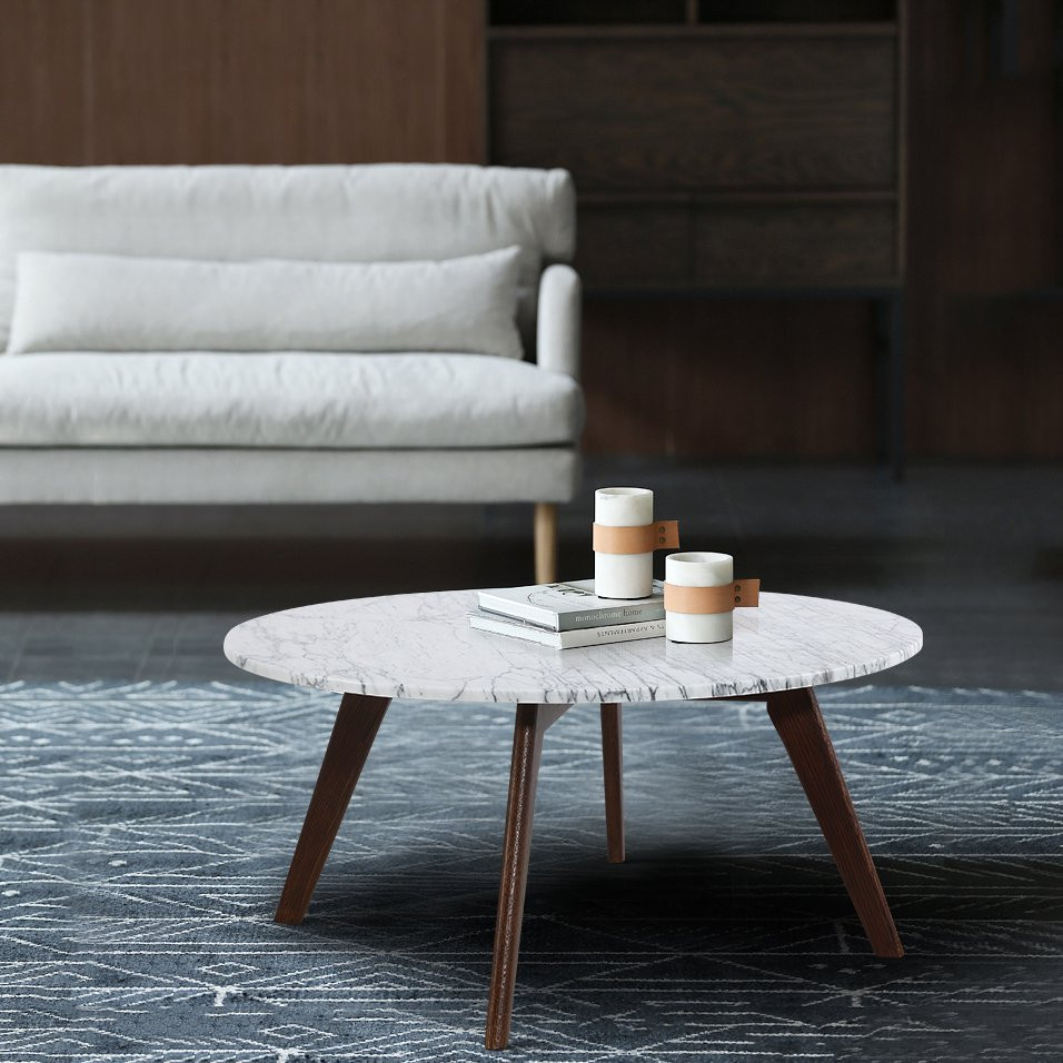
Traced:
<path fill-rule="evenodd" d="M 874 455 L 865 302 L 596 298 L 583 320 L 589 451 Z"/>

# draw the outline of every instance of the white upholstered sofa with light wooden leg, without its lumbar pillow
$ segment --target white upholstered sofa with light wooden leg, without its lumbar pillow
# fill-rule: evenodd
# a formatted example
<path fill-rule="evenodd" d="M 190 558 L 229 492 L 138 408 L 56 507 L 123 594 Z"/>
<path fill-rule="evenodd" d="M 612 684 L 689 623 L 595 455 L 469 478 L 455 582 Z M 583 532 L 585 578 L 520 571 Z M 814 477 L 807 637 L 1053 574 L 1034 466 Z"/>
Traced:
<path fill-rule="evenodd" d="M 516 246 L 525 358 L 453 339 L 387 354 L 41 350 L 63 335 L 43 328 L 30 352 L 0 356 L 0 504 L 528 501 L 537 577 L 552 579 L 554 506 L 579 475 L 574 242 L 560 170 L 0 166 L 0 348 L 34 257 L 22 252 L 395 262 Z M 50 309 L 38 292 L 32 315 Z"/>

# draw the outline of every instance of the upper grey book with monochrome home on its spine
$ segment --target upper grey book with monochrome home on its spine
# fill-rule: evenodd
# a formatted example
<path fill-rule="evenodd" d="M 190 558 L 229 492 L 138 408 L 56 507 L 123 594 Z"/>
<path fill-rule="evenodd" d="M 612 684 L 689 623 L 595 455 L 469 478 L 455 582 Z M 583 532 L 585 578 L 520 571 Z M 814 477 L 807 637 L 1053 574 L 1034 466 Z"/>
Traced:
<path fill-rule="evenodd" d="M 607 624 L 664 619 L 664 584 L 654 580 L 648 598 L 599 598 L 593 579 L 479 592 L 479 607 L 552 632 L 575 632 Z"/>

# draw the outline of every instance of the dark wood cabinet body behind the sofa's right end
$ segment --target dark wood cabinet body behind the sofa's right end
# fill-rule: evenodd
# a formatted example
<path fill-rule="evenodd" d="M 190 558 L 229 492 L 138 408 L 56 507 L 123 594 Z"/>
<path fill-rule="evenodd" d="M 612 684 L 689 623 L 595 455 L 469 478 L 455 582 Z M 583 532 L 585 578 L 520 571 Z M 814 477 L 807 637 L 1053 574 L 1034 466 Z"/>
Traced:
<path fill-rule="evenodd" d="M 897 286 L 904 123 L 888 10 L 495 26 L 491 159 L 573 172 L 592 291 Z"/>

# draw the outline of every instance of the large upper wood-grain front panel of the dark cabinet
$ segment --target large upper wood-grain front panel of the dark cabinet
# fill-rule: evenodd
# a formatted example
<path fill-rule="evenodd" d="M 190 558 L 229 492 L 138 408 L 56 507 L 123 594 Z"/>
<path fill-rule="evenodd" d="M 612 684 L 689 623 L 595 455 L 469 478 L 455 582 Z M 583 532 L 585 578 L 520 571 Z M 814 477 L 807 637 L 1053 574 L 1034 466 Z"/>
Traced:
<path fill-rule="evenodd" d="M 892 37 L 496 40 L 491 156 L 577 187 L 892 187 Z"/>

